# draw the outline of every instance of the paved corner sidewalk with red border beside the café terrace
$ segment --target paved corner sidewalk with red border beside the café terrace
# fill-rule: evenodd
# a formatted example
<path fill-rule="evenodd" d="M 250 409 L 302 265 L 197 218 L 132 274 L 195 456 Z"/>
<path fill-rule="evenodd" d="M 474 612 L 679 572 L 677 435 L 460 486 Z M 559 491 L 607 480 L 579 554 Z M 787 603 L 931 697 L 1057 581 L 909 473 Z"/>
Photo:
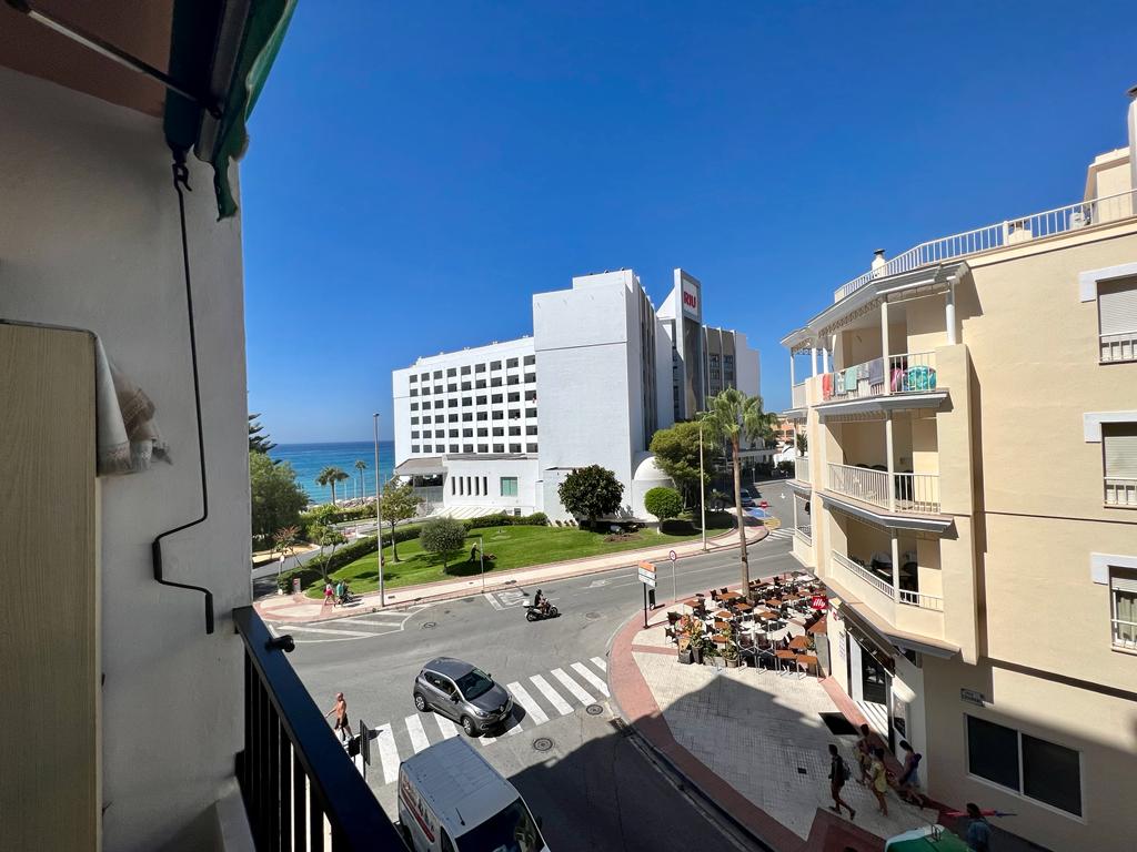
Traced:
<path fill-rule="evenodd" d="M 888 817 L 856 783 L 855 736 L 821 713 L 864 722 L 855 704 L 814 677 L 753 668 L 682 666 L 663 635 L 666 609 L 644 629 L 633 617 L 613 640 L 608 684 L 624 718 L 703 794 L 779 852 L 883 850 L 885 838 L 937 821 L 888 793 Z M 827 688 L 829 686 L 829 688 Z M 835 694 L 836 693 L 836 694 Z M 855 821 L 828 810 L 829 743 L 854 771 L 843 797 Z"/>

